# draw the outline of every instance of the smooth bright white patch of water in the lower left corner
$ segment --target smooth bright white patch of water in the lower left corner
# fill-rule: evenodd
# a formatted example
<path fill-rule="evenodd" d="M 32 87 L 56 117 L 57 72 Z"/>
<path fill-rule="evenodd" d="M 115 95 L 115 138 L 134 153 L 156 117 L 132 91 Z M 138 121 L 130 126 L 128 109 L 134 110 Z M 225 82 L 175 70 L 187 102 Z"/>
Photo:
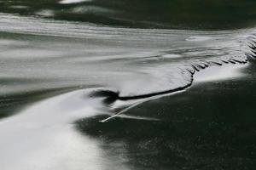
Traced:
<path fill-rule="evenodd" d="M 86 90 L 79 90 L 38 102 L 19 115 L 3 119 L 1 170 L 125 169 L 116 161 L 110 163 L 99 142 L 82 137 L 73 127 L 75 120 L 101 114 L 101 107 L 101 99 L 86 98 Z"/>

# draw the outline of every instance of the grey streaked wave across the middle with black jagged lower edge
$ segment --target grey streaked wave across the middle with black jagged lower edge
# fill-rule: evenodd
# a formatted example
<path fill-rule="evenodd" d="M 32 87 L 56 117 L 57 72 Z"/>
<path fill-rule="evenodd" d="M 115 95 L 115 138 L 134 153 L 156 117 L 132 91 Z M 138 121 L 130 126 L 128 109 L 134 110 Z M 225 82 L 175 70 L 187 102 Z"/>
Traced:
<path fill-rule="evenodd" d="M 2 66 L 1 72 L 7 71 L 15 59 L 25 59 L 23 67 L 12 70 L 9 76 L 20 74 L 22 77 L 33 79 L 34 75 L 40 75 L 45 81 L 52 81 L 48 86 L 79 86 L 83 83 L 87 87 L 96 85 L 115 89 L 91 94 L 95 97 L 107 97 L 105 101 L 108 104 L 117 99 L 143 99 L 184 90 L 192 85 L 196 71 L 212 65 L 246 64 L 248 59 L 254 58 L 256 54 L 253 29 L 130 29 L 12 14 L 0 14 L 0 17 L 2 32 L 36 35 L 33 40 L 35 42 L 38 41 L 37 36 L 47 37 L 46 40 L 40 40 L 37 50 L 26 50 L 23 47 L 19 54 L 14 54 L 11 48 L 5 51 L 2 58 L 5 65 Z M 53 43 L 57 37 L 65 38 Z M 75 43 L 72 45 L 70 41 Z M 19 47 L 26 43 L 30 42 L 15 42 Z M 42 43 L 44 48 L 47 48 L 47 53 L 44 52 Z M 33 43 L 33 46 L 35 44 Z M 4 46 L 9 47 L 9 43 Z M 53 52 L 50 53 L 49 49 Z M 60 52 L 56 52 L 56 49 Z M 30 57 L 32 53 L 37 54 L 37 58 Z M 38 57 L 42 54 L 42 58 Z M 42 62 L 47 65 L 44 67 Z M 34 74 L 31 75 L 27 68 L 33 69 Z M 41 86 L 34 85 L 42 87 L 45 83 L 42 81 Z M 9 90 L 13 91 L 14 88 Z"/>

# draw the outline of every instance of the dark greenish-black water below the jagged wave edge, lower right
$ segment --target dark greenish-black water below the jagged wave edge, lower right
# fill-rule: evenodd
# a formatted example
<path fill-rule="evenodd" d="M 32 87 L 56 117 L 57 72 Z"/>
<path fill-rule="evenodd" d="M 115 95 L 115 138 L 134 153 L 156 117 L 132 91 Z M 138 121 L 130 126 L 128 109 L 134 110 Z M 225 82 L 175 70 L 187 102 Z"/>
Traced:
<path fill-rule="evenodd" d="M 256 65 L 247 77 L 197 83 L 126 112 L 160 121 L 96 116 L 76 123 L 131 169 L 254 169 Z"/>

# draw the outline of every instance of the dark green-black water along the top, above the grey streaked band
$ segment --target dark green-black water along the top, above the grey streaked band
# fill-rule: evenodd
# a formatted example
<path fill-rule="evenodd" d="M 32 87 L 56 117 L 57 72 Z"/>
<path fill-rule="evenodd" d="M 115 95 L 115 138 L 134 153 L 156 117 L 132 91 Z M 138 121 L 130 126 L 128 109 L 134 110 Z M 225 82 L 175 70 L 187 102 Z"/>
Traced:
<path fill-rule="evenodd" d="M 2 1 L 0 10 L 108 26 L 222 30 L 254 26 L 255 5 L 254 0 L 13 0 Z"/>

